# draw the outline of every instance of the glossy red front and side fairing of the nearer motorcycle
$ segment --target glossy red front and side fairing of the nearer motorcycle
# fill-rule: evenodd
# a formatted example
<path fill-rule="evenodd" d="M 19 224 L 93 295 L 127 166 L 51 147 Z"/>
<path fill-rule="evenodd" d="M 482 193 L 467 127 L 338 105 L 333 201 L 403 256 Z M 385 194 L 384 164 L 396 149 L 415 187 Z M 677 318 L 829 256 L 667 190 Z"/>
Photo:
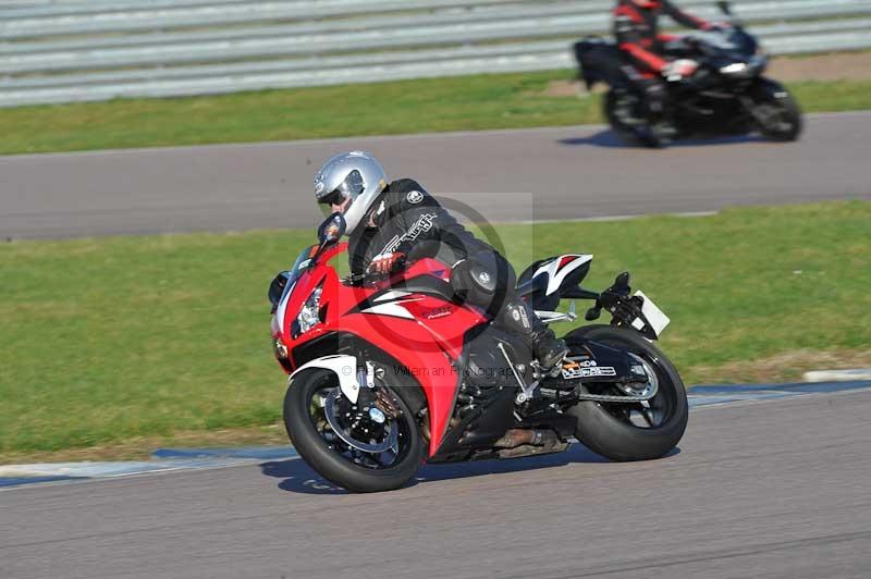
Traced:
<path fill-rule="evenodd" d="M 332 332 L 356 335 L 390 354 L 403 366 L 398 371 L 408 375 L 409 383 L 416 381 L 427 398 L 432 456 L 453 412 L 459 377 L 452 362 L 463 352 L 466 332 L 487 319 L 481 312 L 452 304 L 434 293 L 395 287 L 403 280 L 446 284 L 450 268 L 432 259 L 417 261 L 375 287 L 343 285 L 328 262 L 345 249 L 346 244 L 342 244 L 328 250 L 317 266 L 298 279 L 284 311 L 279 309 L 283 313 L 281 333 L 273 337 L 287 347 L 291 365 L 294 365 L 294 348 Z M 320 307 L 326 307 L 326 319 L 294 340 L 292 324 L 320 284 L 323 284 Z"/>

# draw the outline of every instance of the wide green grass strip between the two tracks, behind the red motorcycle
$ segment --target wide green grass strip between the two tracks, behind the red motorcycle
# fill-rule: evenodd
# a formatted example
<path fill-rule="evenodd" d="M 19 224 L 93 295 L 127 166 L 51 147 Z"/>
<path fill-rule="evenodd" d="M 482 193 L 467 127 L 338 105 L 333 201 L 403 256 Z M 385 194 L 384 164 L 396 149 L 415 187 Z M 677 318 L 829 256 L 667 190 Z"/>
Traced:
<path fill-rule="evenodd" d="M 596 254 L 590 288 L 630 270 L 672 317 L 662 347 L 691 383 L 735 360 L 867 349 L 870 222 L 871 202 L 854 201 L 498 232 L 518 267 Z M 284 381 L 266 288 L 310 237 L 0 245 L 0 458 L 273 423 Z"/>

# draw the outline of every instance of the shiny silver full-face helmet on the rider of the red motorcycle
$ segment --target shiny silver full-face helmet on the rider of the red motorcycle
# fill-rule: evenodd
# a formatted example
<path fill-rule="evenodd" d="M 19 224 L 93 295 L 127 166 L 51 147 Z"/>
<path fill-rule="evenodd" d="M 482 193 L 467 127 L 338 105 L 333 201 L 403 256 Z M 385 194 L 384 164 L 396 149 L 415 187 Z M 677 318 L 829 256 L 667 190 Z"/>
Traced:
<path fill-rule="evenodd" d="M 336 155 L 315 173 L 315 197 L 324 214 L 332 212 L 332 205 L 351 199 L 344 210 L 348 235 L 364 221 L 387 186 L 388 176 L 381 163 L 363 151 Z"/>

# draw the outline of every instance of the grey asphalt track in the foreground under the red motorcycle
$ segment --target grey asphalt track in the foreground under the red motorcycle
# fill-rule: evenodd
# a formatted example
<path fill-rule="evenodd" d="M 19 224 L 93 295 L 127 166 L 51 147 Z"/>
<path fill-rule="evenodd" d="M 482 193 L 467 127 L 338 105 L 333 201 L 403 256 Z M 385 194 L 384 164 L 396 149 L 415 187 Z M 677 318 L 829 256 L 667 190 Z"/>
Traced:
<path fill-rule="evenodd" d="M 302 460 L 0 491 L 0 577 L 871 576 L 871 392 L 699 409 L 679 452 L 425 467 L 349 495 Z"/>

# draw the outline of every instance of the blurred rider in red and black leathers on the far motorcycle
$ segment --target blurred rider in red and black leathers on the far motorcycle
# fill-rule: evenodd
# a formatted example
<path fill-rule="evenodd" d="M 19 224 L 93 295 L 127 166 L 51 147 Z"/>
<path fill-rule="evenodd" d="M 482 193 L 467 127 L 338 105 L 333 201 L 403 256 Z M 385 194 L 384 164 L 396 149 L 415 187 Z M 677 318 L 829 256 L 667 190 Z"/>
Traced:
<path fill-rule="evenodd" d="M 648 111 L 662 116 L 665 106 L 664 78 L 691 76 L 698 63 L 689 59 L 667 60 L 664 44 L 675 36 L 659 32 L 661 14 L 690 28 L 710 30 L 725 27 L 725 23 L 711 23 L 687 14 L 668 0 L 618 0 L 614 9 L 614 36 L 623 53 L 635 65 L 636 86 L 643 93 Z"/>

